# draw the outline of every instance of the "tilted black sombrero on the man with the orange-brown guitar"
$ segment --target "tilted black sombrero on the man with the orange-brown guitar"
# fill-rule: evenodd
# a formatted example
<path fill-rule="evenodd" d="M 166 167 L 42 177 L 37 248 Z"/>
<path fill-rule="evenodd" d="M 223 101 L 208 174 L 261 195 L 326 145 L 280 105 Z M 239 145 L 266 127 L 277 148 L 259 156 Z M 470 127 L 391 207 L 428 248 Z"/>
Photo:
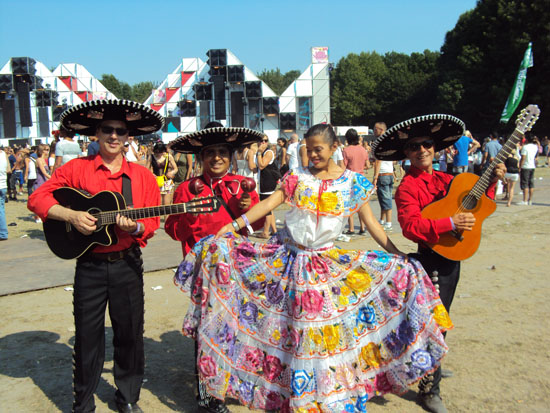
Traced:
<path fill-rule="evenodd" d="M 405 159 L 406 143 L 413 138 L 429 137 L 434 141 L 434 150 L 451 146 L 464 134 L 466 125 L 460 119 L 444 114 L 418 116 L 389 128 L 371 145 L 374 157 L 381 161 Z"/>

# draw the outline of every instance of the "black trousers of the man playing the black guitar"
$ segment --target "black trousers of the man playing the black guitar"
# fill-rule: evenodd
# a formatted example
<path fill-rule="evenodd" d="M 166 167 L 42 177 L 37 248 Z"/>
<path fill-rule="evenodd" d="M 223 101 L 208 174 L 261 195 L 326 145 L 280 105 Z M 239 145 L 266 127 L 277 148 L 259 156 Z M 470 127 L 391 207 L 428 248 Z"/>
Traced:
<path fill-rule="evenodd" d="M 113 326 L 116 400 L 135 403 L 144 373 L 143 261 L 135 248 L 114 262 L 79 258 L 74 282 L 75 412 L 95 409 L 94 392 L 105 360 L 105 309 Z"/>

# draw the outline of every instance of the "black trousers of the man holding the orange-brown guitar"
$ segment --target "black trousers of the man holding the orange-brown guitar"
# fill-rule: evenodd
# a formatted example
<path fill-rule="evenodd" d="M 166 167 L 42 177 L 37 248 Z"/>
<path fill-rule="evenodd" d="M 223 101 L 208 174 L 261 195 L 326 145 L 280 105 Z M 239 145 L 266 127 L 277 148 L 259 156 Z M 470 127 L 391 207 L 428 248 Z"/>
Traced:
<path fill-rule="evenodd" d="M 424 248 L 419 249 L 418 253 L 409 254 L 409 256 L 420 261 L 430 277 L 437 276 L 438 281 L 434 284 L 439 284 L 439 297 L 447 312 L 450 313 L 458 279 L 460 278 L 460 261 L 448 260 L 432 250 Z M 424 377 L 420 381 L 420 392 L 439 395 L 440 382 L 441 366 L 433 374 Z"/>

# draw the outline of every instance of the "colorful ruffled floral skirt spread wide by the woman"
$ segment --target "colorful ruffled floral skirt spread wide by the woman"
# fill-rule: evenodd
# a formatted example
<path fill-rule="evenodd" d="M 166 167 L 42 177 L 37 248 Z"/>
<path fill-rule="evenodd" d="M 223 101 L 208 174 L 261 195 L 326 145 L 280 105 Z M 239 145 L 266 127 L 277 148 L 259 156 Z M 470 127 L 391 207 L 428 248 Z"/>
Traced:
<path fill-rule="evenodd" d="M 382 251 L 202 239 L 180 264 L 183 333 L 221 400 L 283 412 L 364 412 L 435 370 L 452 327 L 421 265 Z"/>

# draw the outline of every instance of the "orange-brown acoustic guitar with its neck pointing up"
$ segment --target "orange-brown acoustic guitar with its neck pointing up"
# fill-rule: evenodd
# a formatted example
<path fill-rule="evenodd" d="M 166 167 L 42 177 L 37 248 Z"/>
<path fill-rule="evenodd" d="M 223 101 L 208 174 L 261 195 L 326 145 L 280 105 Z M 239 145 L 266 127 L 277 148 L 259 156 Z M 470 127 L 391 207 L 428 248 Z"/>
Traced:
<path fill-rule="evenodd" d="M 539 115 L 537 105 L 529 105 L 523 109 L 516 120 L 514 132 L 483 174 L 480 177 L 471 173 L 455 176 L 445 198 L 427 205 L 422 210 L 422 218 L 427 219 L 446 218 L 461 212 L 471 212 L 476 218 L 471 231 L 454 230 L 441 234 L 437 243 L 428 244 L 433 251 L 453 261 L 465 260 L 474 255 L 481 241 L 483 221 L 496 209 L 495 201 L 485 195 L 493 178 L 493 170 L 516 150 L 523 134 L 533 127 Z"/>

